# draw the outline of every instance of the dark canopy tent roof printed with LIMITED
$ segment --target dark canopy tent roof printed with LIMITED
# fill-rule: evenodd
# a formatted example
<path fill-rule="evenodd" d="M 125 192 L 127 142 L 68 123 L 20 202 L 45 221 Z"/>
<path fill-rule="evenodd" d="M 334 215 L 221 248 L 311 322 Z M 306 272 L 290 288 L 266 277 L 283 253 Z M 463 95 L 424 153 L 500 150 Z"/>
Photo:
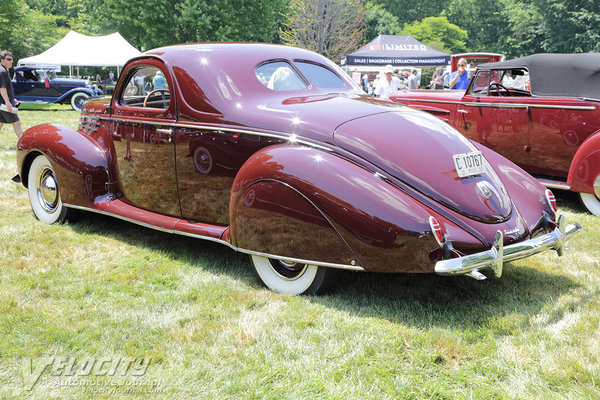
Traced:
<path fill-rule="evenodd" d="M 410 35 L 379 35 L 357 51 L 342 58 L 344 67 L 401 67 L 448 65 L 450 54 L 424 45 Z"/>

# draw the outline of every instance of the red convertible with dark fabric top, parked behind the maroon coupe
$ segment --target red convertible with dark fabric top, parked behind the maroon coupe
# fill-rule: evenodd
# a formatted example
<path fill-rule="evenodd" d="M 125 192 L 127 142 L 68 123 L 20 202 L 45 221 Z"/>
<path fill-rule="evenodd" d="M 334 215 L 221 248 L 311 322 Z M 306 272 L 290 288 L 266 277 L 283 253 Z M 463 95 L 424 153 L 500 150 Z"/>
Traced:
<path fill-rule="evenodd" d="M 600 54 L 481 64 L 465 93 L 398 92 L 600 216 Z"/>

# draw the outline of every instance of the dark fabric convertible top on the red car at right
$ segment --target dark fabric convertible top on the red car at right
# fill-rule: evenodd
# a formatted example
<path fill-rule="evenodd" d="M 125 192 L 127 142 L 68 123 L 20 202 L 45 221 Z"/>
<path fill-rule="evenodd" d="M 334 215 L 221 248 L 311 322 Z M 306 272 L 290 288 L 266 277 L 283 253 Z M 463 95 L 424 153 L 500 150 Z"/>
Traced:
<path fill-rule="evenodd" d="M 527 68 L 532 95 L 600 100 L 600 53 L 533 54 L 477 68 Z"/>

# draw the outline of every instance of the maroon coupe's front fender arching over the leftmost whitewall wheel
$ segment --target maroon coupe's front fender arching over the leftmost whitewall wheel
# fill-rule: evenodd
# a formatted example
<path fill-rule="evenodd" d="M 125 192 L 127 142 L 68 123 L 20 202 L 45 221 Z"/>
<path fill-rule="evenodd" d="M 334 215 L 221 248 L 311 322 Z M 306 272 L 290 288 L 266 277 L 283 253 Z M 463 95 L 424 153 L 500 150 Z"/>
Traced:
<path fill-rule="evenodd" d="M 89 137 L 55 124 L 23 132 L 17 143 L 17 168 L 26 187 L 29 167 L 39 154 L 45 155 L 54 169 L 63 203 L 89 207 L 108 192 L 106 155 Z"/>

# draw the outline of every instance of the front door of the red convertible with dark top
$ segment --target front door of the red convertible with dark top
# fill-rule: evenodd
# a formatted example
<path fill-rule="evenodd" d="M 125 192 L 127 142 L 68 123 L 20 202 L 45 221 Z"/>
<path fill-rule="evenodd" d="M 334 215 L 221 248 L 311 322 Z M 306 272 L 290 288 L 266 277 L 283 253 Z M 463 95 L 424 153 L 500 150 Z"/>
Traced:
<path fill-rule="evenodd" d="M 479 71 L 457 107 L 454 124 L 469 139 L 526 166 L 531 161 L 529 99 L 495 90 L 501 77 L 501 71 Z"/>

